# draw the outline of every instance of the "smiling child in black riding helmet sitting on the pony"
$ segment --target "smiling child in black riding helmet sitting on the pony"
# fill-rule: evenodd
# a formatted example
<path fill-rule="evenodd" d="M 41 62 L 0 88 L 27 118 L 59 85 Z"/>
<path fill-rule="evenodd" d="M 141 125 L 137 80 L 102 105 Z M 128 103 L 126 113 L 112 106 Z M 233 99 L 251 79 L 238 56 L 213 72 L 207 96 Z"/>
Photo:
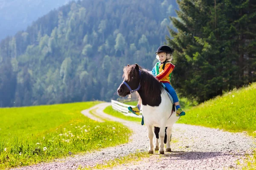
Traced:
<path fill-rule="evenodd" d="M 182 111 L 182 109 L 180 108 L 180 103 L 176 91 L 170 85 L 172 71 L 175 67 L 175 65 L 171 63 L 172 48 L 168 45 L 162 45 L 157 49 L 156 54 L 156 58 L 159 60 L 159 62 L 156 63 L 151 73 L 166 86 L 167 90 L 169 91 L 169 94 L 171 94 L 177 110 L 176 116 L 184 116 L 186 113 Z M 128 110 L 136 115 L 139 115 L 140 103 L 141 102 L 139 101 L 137 106 L 135 106 L 134 108 L 128 107 Z"/>

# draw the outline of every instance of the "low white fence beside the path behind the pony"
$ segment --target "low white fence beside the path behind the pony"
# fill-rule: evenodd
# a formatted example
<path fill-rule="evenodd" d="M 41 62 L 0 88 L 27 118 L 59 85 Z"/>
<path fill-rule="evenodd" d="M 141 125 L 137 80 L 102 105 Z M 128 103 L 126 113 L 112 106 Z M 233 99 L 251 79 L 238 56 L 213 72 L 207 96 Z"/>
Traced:
<path fill-rule="evenodd" d="M 129 110 L 128 110 L 128 107 L 131 106 L 131 107 L 135 107 L 135 106 L 132 106 L 132 105 L 126 105 L 126 104 L 123 104 L 121 102 L 117 102 L 116 100 L 111 100 L 111 105 L 112 105 L 112 108 L 116 111 L 119 111 L 121 112 L 123 115 L 125 116 L 132 116 L 132 117 L 139 117 L 139 118 L 142 118 L 142 115 L 140 113 L 139 116 L 135 115 L 134 113 L 129 113 Z"/>

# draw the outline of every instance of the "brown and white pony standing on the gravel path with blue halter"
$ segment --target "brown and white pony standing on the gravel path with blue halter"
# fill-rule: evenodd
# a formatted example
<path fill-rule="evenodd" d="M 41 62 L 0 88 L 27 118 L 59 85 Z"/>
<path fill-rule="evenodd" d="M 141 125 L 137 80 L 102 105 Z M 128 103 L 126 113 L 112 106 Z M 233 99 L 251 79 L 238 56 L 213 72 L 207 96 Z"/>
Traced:
<path fill-rule="evenodd" d="M 138 92 L 141 99 L 141 110 L 144 122 L 148 129 L 148 153 L 153 154 L 154 149 L 159 149 L 158 139 L 156 139 L 155 148 L 153 145 L 153 127 L 155 127 L 155 132 L 159 130 L 159 153 L 164 154 L 164 136 L 166 134 L 166 139 L 171 139 L 172 126 L 179 119 L 179 117 L 176 116 L 173 102 L 169 98 L 168 92 L 163 88 L 162 83 L 159 82 L 150 71 L 134 64 L 124 67 L 123 72 L 124 79 L 117 89 L 117 94 L 120 97 L 125 97 L 134 91 Z M 166 142 L 166 152 L 170 151 L 172 150 L 170 141 L 168 140 Z"/>

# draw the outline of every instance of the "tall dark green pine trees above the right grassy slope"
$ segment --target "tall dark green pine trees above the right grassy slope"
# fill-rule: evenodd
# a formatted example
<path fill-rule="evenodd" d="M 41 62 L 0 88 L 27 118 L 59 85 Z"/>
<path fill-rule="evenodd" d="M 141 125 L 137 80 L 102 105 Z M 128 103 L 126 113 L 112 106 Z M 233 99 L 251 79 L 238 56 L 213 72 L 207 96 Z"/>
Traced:
<path fill-rule="evenodd" d="M 167 37 L 175 49 L 173 85 L 178 91 L 203 102 L 246 84 L 245 69 L 255 67 L 244 62 L 246 56 L 255 55 L 255 8 L 250 8 L 249 0 L 180 0 L 178 4 L 178 18 L 170 18 L 178 32 L 169 29 L 173 39 Z"/>

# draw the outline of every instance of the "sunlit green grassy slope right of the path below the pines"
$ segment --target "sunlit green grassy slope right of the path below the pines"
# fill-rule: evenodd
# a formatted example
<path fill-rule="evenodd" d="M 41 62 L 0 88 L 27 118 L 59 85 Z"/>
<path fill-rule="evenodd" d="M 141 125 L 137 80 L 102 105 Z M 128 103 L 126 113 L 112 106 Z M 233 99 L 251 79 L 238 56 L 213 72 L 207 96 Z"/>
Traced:
<path fill-rule="evenodd" d="M 256 83 L 187 110 L 178 123 L 247 131 L 253 135 L 256 131 Z"/>

